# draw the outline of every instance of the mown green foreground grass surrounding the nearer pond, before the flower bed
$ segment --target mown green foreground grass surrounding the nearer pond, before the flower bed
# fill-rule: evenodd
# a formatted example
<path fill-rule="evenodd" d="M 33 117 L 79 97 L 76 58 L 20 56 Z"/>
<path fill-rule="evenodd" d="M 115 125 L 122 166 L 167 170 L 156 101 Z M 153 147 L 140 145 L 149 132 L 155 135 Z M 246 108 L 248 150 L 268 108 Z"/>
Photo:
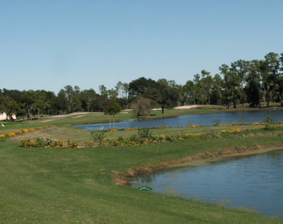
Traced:
<path fill-rule="evenodd" d="M 42 123 L 8 123 L 6 130 L 21 129 L 21 125 L 32 128 Z M 201 128 L 194 130 L 204 132 Z M 283 223 L 282 219 L 246 208 L 226 208 L 139 191 L 117 185 L 112 178 L 113 174 L 123 174 L 133 167 L 161 164 L 199 152 L 276 145 L 283 141 L 282 136 L 180 141 L 139 147 L 18 147 L 20 138 L 38 135 L 64 140 L 70 136 L 81 140 L 90 138 L 88 131 L 63 125 L 0 139 L 0 223 Z"/>

